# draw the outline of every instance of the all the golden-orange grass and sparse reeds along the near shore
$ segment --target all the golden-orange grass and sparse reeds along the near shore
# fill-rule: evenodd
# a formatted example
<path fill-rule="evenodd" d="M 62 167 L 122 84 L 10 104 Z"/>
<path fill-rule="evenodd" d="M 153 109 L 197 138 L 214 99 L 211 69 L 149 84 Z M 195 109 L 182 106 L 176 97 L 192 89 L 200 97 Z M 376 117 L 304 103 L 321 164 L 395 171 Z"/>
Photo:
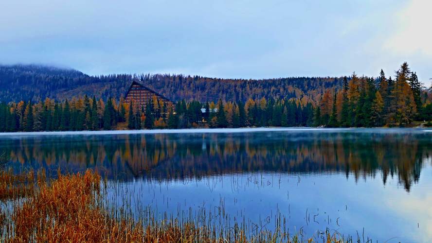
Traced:
<path fill-rule="evenodd" d="M 14 175 L 6 171 L 0 173 L 0 179 L 0 199 L 10 205 L 3 207 L 6 212 L 0 212 L 0 236 L 5 242 L 303 242 L 298 235 L 277 230 L 247 237 L 238 226 L 228 234 L 218 234 L 214 227 L 180 224 L 178 219 L 147 219 L 151 224 L 144 226 L 131 215 L 114 216 L 103 203 L 107 182 L 90 170 L 84 174 L 58 174 L 50 182 L 44 171 L 36 176 L 34 172 Z M 321 240 L 344 242 L 328 233 Z"/>

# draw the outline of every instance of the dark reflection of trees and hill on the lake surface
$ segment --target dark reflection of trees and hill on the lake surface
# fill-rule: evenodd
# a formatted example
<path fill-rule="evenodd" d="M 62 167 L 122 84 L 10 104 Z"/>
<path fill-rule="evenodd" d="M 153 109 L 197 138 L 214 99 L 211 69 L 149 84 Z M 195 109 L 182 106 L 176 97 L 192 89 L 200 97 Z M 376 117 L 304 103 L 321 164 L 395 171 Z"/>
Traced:
<path fill-rule="evenodd" d="M 410 191 L 431 156 L 431 134 L 365 131 L 3 137 L 0 150 L 17 171 L 97 168 L 122 180 L 280 172 L 353 174 L 358 181 L 378 174 Z"/>

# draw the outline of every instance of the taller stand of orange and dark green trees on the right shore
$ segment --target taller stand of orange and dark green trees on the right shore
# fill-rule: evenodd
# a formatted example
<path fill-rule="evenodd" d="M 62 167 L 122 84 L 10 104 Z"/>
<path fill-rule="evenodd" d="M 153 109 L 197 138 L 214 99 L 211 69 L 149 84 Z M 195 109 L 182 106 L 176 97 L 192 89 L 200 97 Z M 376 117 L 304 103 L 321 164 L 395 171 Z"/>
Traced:
<path fill-rule="evenodd" d="M 406 62 L 395 79 L 382 69 L 376 79 L 354 73 L 348 82 L 345 77 L 341 89 L 324 92 L 314 119 L 315 126 L 326 127 L 406 126 L 423 120 L 432 120 L 431 94 Z"/>

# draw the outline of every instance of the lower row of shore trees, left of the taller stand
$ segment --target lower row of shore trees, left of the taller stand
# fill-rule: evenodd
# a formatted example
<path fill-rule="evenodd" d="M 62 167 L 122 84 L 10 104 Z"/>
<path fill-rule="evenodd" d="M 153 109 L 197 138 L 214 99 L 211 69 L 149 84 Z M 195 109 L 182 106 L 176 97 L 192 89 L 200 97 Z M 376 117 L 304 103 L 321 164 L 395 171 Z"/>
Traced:
<path fill-rule="evenodd" d="M 137 103 L 88 96 L 71 101 L 0 103 L 0 132 L 82 131 L 191 127 L 312 126 L 314 108 L 296 100 L 266 100 L 246 103 L 199 101 L 165 107 L 153 102 Z"/>

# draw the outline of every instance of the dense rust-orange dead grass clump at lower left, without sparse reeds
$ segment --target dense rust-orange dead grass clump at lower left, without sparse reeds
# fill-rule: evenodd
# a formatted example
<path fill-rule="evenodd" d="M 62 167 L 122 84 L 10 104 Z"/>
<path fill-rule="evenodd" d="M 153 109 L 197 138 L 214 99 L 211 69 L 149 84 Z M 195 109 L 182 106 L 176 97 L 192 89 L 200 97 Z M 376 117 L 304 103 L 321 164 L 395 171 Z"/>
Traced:
<path fill-rule="evenodd" d="M 13 216 L 14 242 L 135 242 L 142 230 L 108 218 L 98 204 L 100 176 L 58 175 L 23 203 Z"/>

